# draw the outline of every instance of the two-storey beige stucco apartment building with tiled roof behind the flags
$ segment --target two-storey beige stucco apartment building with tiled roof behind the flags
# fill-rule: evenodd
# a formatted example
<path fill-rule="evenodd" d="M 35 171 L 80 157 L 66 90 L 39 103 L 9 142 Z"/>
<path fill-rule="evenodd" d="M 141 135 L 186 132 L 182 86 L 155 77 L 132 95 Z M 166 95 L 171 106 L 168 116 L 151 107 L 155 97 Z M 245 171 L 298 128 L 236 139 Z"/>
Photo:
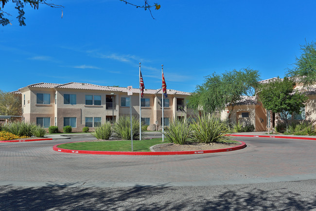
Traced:
<path fill-rule="evenodd" d="M 131 102 L 127 88 L 99 86 L 89 83 L 70 82 L 36 83 L 18 90 L 22 96 L 22 118 L 44 128 L 58 126 L 62 131 L 70 125 L 73 132 L 82 132 L 84 127 L 93 131 L 105 121 L 116 121 L 121 115 L 129 115 L 130 103 L 132 115 L 146 124 L 169 125 L 175 118 L 187 119 L 192 112 L 186 107 L 190 93 L 167 90 L 168 97 L 161 104 L 161 89 L 145 89 L 139 100 L 139 89 L 133 89 Z M 162 106 L 164 116 L 162 118 Z"/>

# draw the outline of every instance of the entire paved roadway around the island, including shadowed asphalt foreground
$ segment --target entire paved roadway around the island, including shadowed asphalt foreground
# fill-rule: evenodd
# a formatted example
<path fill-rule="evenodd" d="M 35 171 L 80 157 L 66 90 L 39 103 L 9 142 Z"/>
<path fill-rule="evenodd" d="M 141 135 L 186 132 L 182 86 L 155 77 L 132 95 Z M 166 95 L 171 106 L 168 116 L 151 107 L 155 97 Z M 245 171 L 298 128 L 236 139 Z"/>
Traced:
<path fill-rule="evenodd" d="M 238 137 L 225 153 L 58 153 L 74 139 L 0 144 L 0 210 L 316 211 L 316 141 Z M 88 138 L 91 139 L 91 138 Z"/>

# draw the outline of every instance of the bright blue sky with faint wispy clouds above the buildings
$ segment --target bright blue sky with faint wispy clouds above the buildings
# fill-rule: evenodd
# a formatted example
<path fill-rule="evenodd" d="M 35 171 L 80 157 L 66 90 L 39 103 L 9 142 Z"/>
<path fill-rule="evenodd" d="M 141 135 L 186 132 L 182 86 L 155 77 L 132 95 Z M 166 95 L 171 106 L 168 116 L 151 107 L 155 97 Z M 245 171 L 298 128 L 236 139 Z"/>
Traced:
<path fill-rule="evenodd" d="M 52 0 L 61 9 L 26 6 L 19 26 L 13 3 L 0 26 L 0 90 L 38 82 L 86 82 L 193 92 L 204 77 L 250 67 L 283 77 L 300 45 L 316 40 L 316 0 L 149 0 L 148 11 L 120 0 Z M 75 3 L 74 3 L 75 2 Z M 143 0 L 130 0 L 143 4 Z"/>

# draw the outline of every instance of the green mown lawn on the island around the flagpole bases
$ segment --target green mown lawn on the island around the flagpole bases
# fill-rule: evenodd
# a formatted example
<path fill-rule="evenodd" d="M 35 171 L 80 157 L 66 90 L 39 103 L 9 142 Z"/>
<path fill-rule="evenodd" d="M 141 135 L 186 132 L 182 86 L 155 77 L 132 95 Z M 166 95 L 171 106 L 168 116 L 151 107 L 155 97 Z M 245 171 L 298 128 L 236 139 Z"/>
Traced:
<path fill-rule="evenodd" d="M 169 143 L 168 140 L 162 142 L 162 138 L 153 138 L 148 140 L 133 140 L 133 151 L 150 152 L 150 147 L 156 144 Z M 131 141 L 94 141 L 94 142 L 75 142 L 58 145 L 59 148 L 69 150 L 88 150 L 88 151 L 113 151 L 113 152 L 131 152 Z"/>

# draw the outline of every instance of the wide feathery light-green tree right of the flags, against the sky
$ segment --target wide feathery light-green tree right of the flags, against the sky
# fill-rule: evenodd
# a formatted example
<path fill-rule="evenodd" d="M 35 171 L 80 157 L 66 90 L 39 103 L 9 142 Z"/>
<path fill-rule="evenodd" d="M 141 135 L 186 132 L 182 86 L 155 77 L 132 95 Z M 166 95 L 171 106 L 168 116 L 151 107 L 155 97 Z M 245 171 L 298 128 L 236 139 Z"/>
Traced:
<path fill-rule="evenodd" d="M 207 76 L 202 85 L 197 85 L 196 90 L 189 98 L 188 106 L 212 113 L 223 110 L 227 104 L 231 111 L 242 96 L 253 96 L 260 75 L 257 70 L 243 68 L 233 70 L 221 75 L 213 73 Z"/>

